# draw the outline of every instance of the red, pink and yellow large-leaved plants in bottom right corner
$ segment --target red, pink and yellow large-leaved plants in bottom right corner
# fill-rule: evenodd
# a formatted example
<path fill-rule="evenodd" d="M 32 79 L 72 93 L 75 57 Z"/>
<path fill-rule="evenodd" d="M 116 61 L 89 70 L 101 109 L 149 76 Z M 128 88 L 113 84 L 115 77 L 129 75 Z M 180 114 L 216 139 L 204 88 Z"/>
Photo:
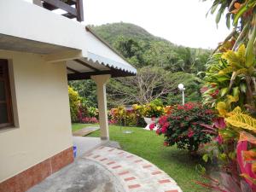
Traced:
<path fill-rule="evenodd" d="M 203 125 L 207 131 L 215 132 L 215 143 L 218 147 L 217 155 L 221 160 L 221 173 L 224 174 L 226 183 L 201 183 L 208 188 L 226 191 L 236 188 L 236 191 L 256 190 L 256 119 L 236 107 L 230 111 L 231 102 L 218 102 L 218 113 L 221 117 L 214 120 L 214 124 Z M 213 154 L 213 153 L 212 153 Z M 212 159 L 212 154 L 204 154 L 203 159 Z M 225 172 L 225 173 L 224 173 Z M 241 177 L 244 177 L 244 182 Z M 228 182 L 230 181 L 230 183 Z M 230 184 L 232 186 L 230 186 Z M 235 187 L 236 186 L 236 187 Z M 245 190 L 246 189 L 246 190 Z M 230 191 L 230 190 L 228 190 Z"/>

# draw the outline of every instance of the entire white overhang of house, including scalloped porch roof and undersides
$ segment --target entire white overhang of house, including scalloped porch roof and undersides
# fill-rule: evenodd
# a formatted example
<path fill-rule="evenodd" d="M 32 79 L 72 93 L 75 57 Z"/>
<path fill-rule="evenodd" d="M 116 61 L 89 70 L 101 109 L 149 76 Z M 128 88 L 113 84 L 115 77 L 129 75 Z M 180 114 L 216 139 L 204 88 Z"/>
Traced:
<path fill-rule="evenodd" d="M 33 15 L 33 16 L 31 16 Z M 135 75 L 122 55 L 77 21 L 25 1 L 0 1 L 0 49 L 43 55 L 45 61 L 67 61 L 67 78 L 90 79 Z"/>

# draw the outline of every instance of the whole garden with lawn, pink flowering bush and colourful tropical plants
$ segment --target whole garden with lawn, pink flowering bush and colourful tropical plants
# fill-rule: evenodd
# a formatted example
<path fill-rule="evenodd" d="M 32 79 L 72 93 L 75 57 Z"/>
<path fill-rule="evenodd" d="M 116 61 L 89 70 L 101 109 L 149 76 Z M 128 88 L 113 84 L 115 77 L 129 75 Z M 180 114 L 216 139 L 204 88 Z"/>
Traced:
<path fill-rule="evenodd" d="M 179 104 L 176 81 L 172 91 L 160 86 L 163 82 L 143 88 L 143 78 L 157 75 L 138 74 L 137 84 L 150 94 L 143 97 L 137 91 L 142 99 L 129 100 L 130 94 L 126 102 L 109 108 L 110 139 L 159 166 L 183 191 L 256 191 L 256 1 L 215 0 L 209 12 L 217 12 L 217 23 L 225 15 L 233 30 L 212 51 L 205 70 L 197 73 L 197 98 Z M 77 123 L 73 126 L 97 124 L 97 108 L 75 85 L 68 89 L 72 120 Z M 179 101 L 173 103 L 170 96 Z M 143 129 L 147 118 L 151 131 Z M 90 134 L 98 136 L 98 131 Z"/>

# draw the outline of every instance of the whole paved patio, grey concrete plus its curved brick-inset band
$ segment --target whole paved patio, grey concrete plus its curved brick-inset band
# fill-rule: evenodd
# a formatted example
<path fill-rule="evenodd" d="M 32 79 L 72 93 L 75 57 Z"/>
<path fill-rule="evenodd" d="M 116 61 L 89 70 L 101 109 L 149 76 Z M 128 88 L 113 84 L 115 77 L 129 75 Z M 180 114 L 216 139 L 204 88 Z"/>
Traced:
<path fill-rule="evenodd" d="M 181 192 L 177 183 L 147 160 L 99 147 L 46 178 L 28 192 Z"/>

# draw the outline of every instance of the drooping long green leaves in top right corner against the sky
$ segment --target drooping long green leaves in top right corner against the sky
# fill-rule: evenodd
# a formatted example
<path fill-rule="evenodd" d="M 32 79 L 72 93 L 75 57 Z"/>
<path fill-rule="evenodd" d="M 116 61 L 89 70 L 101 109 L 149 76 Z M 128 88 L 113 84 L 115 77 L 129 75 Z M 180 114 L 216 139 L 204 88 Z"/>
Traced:
<path fill-rule="evenodd" d="M 216 23 L 218 24 L 222 15 L 225 14 L 226 26 L 230 28 L 232 22 L 231 25 L 234 27 L 230 35 L 222 44 L 219 44 L 216 50 L 235 50 L 241 44 L 248 44 L 247 54 L 252 55 L 252 48 L 256 38 L 255 7 L 255 0 L 214 0 L 209 12 L 214 14 L 218 9 Z"/>

